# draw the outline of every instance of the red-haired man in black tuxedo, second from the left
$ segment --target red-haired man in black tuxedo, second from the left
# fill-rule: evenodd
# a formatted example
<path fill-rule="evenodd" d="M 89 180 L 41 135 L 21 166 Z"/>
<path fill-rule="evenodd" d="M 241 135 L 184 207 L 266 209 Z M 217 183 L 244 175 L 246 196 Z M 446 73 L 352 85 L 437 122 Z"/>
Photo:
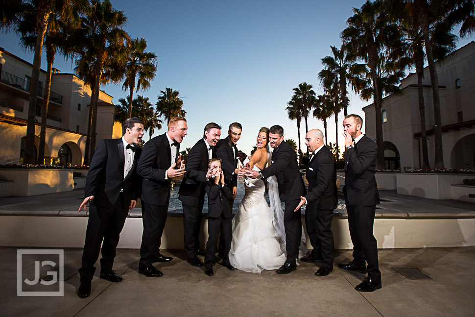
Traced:
<path fill-rule="evenodd" d="M 171 257 L 160 254 L 163 230 L 165 228 L 170 183 L 173 177 L 185 174 L 184 162 L 180 160 L 180 143 L 187 135 L 187 121 L 172 117 L 168 131 L 143 146 L 137 172 L 142 183 L 142 244 L 140 246 L 139 273 L 148 277 L 160 277 L 163 273 L 153 262 L 168 262 Z"/>

